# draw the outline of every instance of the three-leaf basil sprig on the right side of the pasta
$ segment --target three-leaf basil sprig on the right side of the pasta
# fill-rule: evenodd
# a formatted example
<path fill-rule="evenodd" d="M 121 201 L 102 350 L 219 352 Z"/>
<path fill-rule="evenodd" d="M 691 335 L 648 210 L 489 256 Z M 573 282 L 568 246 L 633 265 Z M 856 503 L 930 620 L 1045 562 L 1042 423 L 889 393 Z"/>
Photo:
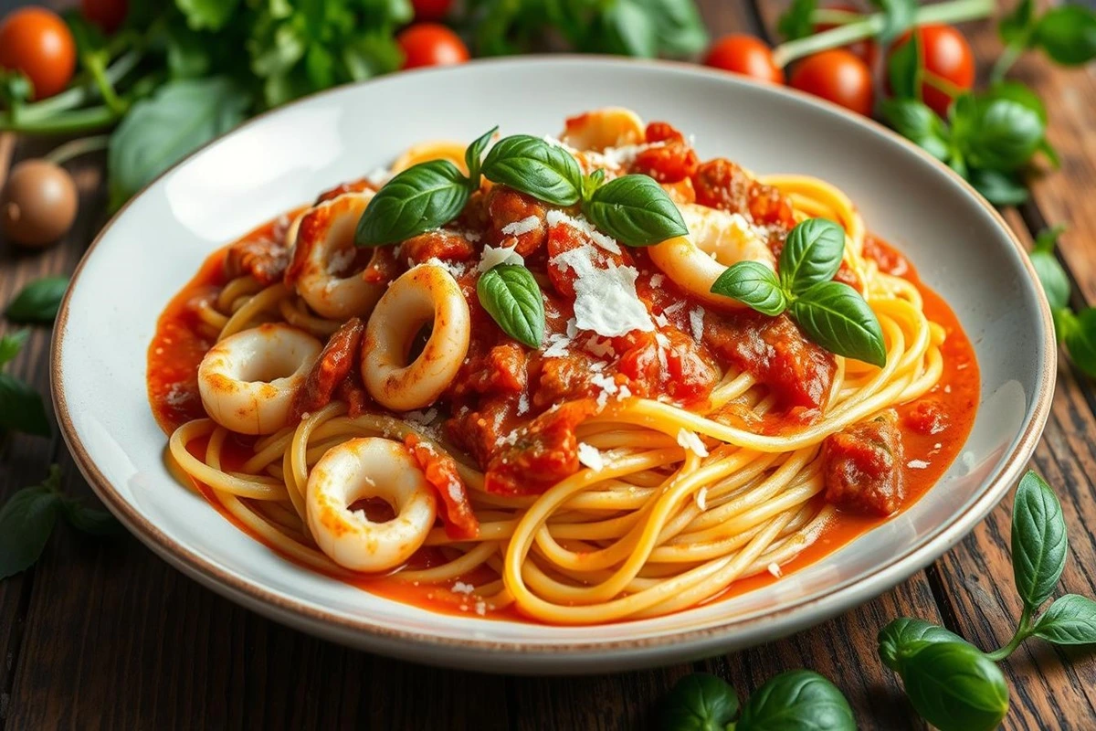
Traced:
<path fill-rule="evenodd" d="M 810 218 L 788 233 L 779 278 L 763 264 L 739 262 L 719 275 L 711 292 L 770 317 L 786 311 L 831 353 L 882 367 L 887 347 L 879 319 L 856 289 L 832 282 L 844 251 L 840 226 Z"/>

